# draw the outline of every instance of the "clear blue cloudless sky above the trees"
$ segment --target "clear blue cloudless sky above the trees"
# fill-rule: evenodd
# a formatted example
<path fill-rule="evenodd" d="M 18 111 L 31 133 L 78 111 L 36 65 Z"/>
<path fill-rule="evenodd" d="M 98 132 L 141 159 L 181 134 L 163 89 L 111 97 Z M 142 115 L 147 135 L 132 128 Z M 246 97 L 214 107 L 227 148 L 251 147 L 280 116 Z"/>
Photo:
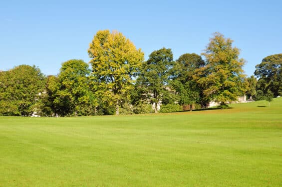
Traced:
<path fill-rule="evenodd" d="M 171 48 L 174 59 L 201 54 L 213 32 L 234 40 L 251 76 L 282 53 L 282 0 L 1 0 L 0 69 L 38 66 L 56 75 L 69 59 L 89 62 L 98 30 L 118 30 L 148 55 Z"/>

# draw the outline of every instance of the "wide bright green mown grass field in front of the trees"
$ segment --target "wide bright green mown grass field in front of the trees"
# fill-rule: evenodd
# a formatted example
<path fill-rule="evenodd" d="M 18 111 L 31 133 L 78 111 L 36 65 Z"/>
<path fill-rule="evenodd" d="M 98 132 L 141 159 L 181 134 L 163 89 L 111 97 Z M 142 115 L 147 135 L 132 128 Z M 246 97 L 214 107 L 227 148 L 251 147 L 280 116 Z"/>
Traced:
<path fill-rule="evenodd" d="M 231 107 L 0 117 L 0 187 L 282 187 L 282 98 Z"/>

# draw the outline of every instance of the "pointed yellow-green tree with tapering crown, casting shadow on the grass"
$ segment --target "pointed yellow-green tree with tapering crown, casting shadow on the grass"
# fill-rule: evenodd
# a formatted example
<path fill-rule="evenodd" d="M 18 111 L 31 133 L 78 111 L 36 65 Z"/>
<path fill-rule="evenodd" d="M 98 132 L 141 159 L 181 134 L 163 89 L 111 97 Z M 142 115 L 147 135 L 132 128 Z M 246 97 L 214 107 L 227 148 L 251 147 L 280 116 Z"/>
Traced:
<path fill-rule="evenodd" d="M 239 59 L 240 50 L 232 47 L 232 42 L 216 32 L 202 53 L 206 65 L 199 68 L 194 77 L 204 88 L 203 96 L 207 102 L 215 100 L 225 105 L 228 101 L 236 101 L 247 89 L 242 69 L 245 60 Z"/>

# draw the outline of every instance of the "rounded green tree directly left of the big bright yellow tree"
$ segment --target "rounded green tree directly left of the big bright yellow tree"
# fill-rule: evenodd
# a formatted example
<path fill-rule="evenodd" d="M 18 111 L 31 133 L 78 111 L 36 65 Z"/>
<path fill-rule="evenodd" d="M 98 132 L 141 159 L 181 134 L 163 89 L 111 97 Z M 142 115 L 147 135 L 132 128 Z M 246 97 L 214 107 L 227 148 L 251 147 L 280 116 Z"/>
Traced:
<path fill-rule="evenodd" d="M 47 105 L 54 113 L 62 116 L 93 114 L 95 99 L 89 87 L 89 73 L 87 63 L 72 59 L 62 63 L 57 77 L 48 78 Z"/>

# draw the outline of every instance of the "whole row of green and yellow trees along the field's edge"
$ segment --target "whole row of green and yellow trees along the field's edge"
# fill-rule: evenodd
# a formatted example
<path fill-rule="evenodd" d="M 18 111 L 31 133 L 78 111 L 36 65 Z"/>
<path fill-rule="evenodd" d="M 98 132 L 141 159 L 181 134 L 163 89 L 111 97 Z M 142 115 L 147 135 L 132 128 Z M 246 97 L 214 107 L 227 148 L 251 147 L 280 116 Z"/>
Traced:
<path fill-rule="evenodd" d="M 201 55 L 172 50 L 144 53 L 122 33 L 100 30 L 91 41 L 88 63 L 63 62 L 58 75 L 19 65 L 0 72 L 0 115 L 86 116 L 173 112 L 227 103 L 246 94 L 257 100 L 282 94 L 282 54 L 268 56 L 255 76 L 233 40 L 214 33 Z M 205 58 L 203 59 L 202 56 Z M 159 110 L 161 104 L 161 109 Z M 152 107 L 153 106 L 153 107 Z"/>

